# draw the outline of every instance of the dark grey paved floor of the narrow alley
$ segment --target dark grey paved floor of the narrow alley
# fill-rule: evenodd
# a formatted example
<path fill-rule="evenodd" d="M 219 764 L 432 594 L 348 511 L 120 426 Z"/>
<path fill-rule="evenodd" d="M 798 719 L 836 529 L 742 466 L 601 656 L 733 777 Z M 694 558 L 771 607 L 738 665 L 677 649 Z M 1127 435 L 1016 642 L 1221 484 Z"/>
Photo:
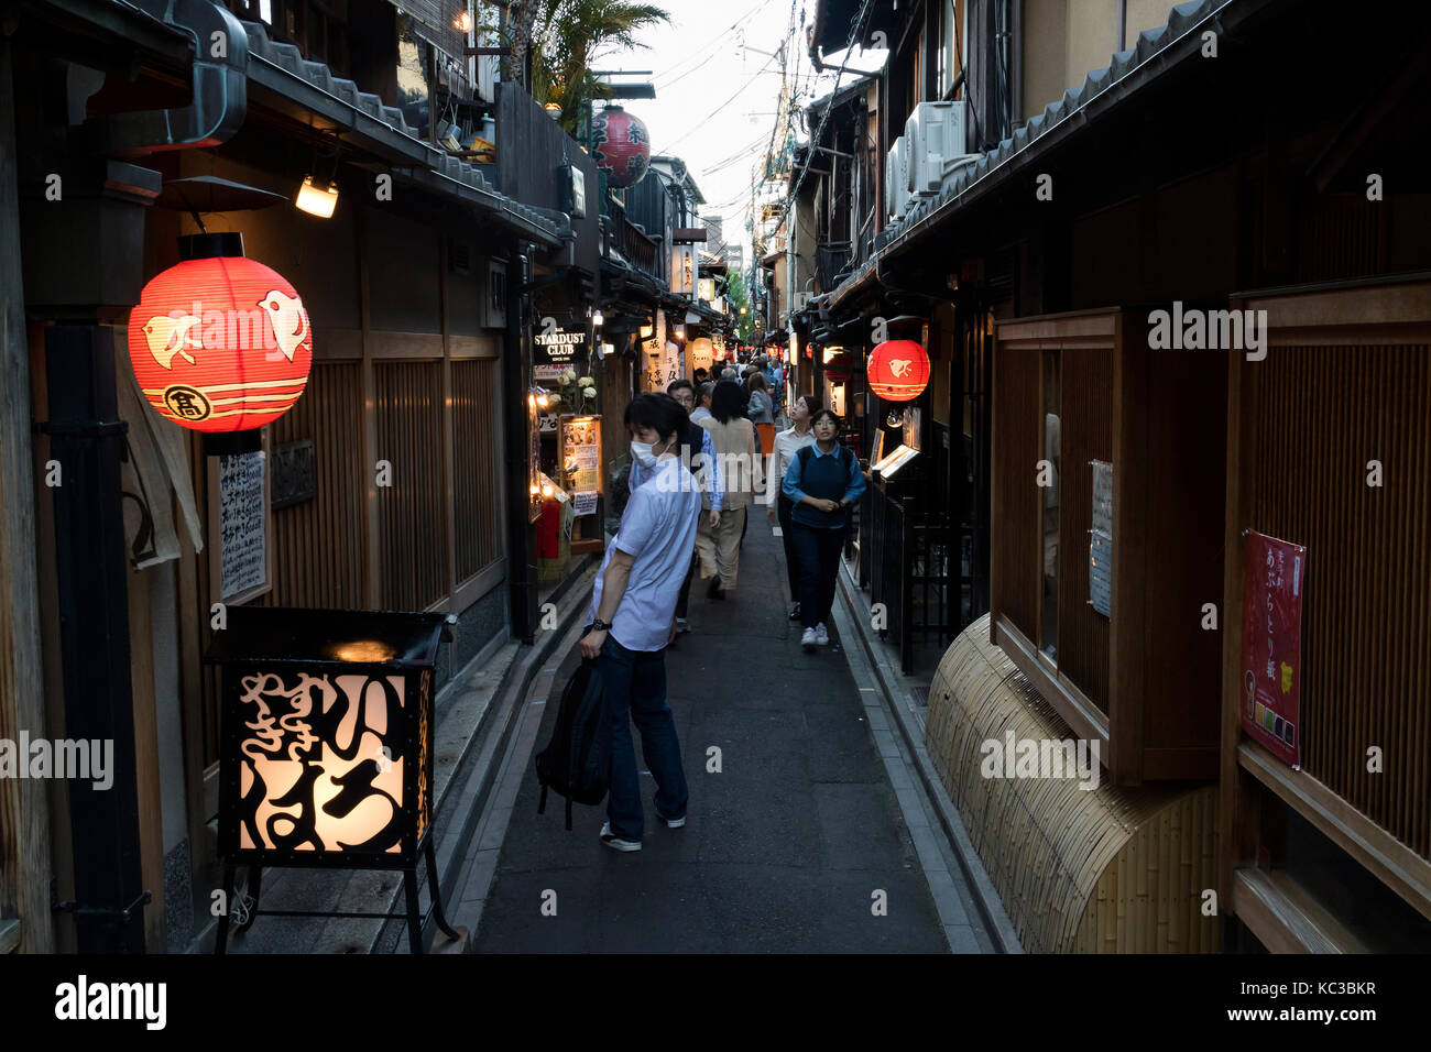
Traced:
<path fill-rule="evenodd" d="M 786 618 L 780 538 L 763 507 L 751 511 L 737 587 L 708 601 L 697 577 L 693 631 L 667 650 L 691 792 L 685 827 L 655 823 L 655 786 L 643 774 L 643 850 L 600 843 L 604 806 L 578 806 L 568 833 L 561 797 L 537 814 L 528 759 L 479 953 L 947 950 L 841 643 L 800 648 L 798 624 Z M 572 648 L 538 750 L 577 661 Z M 707 770 L 713 747 L 718 773 Z M 555 916 L 545 916 L 551 892 Z"/>

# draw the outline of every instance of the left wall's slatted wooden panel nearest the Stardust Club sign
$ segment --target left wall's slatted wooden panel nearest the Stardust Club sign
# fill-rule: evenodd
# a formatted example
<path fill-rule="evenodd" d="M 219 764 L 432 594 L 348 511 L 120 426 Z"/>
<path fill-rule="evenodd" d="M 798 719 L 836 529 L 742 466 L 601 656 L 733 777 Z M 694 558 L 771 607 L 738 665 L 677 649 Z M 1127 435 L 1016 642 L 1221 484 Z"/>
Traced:
<path fill-rule="evenodd" d="M 459 584 L 502 557 L 498 376 L 495 359 L 452 362 L 452 498 Z"/>

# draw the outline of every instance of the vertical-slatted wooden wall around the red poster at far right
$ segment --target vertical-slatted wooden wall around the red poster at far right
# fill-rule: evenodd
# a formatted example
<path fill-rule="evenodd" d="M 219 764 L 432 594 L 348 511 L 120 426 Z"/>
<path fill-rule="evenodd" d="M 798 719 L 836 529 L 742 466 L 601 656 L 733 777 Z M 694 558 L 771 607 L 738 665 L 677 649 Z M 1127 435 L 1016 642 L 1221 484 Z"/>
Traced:
<path fill-rule="evenodd" d="M 1246 365 L 1244 527 L 1307 545 L 1304 769 L 1431 857 L 1431 348 Z M 1367 485 L 1367 462 L 1384 485 Z M 1384 773 L 1367 750 L 1384 751 Z"/>

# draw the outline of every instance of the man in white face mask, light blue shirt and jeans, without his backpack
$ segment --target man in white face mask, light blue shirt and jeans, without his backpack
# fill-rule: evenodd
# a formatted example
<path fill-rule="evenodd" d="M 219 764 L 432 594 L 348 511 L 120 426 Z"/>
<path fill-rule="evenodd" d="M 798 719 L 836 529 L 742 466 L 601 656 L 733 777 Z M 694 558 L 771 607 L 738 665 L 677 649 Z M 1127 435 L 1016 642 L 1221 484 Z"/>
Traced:
<path fill-rule="evenodd" d="M 671 829 L 685 824 L 690 794 L 675 720 L 665 703 L 665 644 L 690 565 L 701 495 L 688 477 L 683 478 L 687 472 L 678 452 L 687 417 L 674 398 L 638 395 L 627 406 L 625 424 L 631 458 L 644 477 L 631 491 L 597 574 L 581 656 L 594 660 L 601 674 L 607 717 L 601 734 L 610 734 L 611 789 L 601 843 L 638 852 L 644 813 L 633 719 L 655 779 L 655 814 Z"/>

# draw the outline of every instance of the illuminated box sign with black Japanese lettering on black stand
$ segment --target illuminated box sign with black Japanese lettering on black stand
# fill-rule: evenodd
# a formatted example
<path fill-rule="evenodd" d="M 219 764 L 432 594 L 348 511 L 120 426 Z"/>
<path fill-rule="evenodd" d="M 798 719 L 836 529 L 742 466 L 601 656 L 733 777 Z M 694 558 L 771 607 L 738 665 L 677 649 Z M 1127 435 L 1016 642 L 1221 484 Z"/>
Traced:
<path fill-rule="evenodd" d="M 419 854 L 435 880 L 432 691 L 444 624 L 445 614 L 228 610 L 206 656 L 222 666 L 226 889 L 236 865 L 401 869 L 421 940 Z"/>

